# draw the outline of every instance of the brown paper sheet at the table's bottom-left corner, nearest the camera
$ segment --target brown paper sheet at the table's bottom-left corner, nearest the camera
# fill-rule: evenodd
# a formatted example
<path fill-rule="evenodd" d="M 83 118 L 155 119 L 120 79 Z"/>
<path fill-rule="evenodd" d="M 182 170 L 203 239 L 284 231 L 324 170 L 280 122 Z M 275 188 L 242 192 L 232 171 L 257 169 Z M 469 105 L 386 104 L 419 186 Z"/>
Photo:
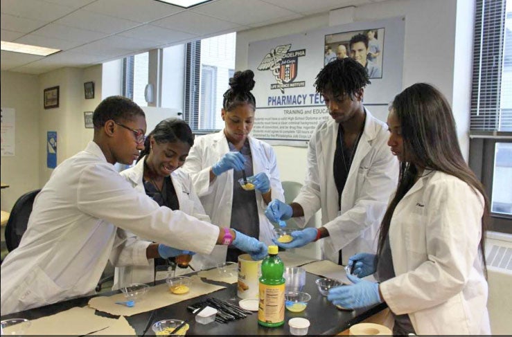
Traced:
<path fill-rule="evenodd" d="M 74 307 L 55 315 L 30 321 L 25 335 L 82 336 L 114 325 L 116 319 L 96 316 L 94 309 Z M 8 334 L 8 331 L 4 331 Z"/>

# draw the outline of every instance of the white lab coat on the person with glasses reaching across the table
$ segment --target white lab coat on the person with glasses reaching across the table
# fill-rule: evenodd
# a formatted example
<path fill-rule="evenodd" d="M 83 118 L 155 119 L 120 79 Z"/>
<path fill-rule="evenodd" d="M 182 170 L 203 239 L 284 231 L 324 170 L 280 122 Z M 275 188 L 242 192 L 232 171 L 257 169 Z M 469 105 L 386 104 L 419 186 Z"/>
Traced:
<path fill-rule="evenodd" d="M 219 235 L 218 226 L 159 207 L 134 190 L 90 142 L 54 170 L 19 247 L 3 261 L 1 315 L 94 293 L 116 226 L 205 254 Z"/>

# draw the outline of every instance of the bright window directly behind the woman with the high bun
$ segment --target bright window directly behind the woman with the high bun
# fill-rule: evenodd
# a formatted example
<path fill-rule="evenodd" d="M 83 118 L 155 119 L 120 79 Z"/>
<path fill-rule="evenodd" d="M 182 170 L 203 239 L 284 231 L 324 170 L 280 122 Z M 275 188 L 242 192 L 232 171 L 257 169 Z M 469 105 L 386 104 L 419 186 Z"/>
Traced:
<path fill-rule="evenodd" d="M 222 95 L 235 68 L 236 33 L 188 43 L 186 46 L 184 119 L 196 133 L 220 130 Z"/>

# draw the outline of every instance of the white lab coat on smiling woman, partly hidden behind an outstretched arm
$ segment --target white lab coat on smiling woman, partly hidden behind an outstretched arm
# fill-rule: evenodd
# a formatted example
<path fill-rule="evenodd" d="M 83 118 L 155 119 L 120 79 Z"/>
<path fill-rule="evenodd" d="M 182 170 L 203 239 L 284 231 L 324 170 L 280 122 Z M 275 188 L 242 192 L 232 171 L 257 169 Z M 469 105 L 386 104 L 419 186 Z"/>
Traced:
<path fill-rule="evenodd" d="M 144 160 L 145 157 L 141 158 L 134 167 L 121 172 L 121 176 L 131 183 L 135 190 L 145 194 L 143 184 Z M 201 201 L 194 192 L 190 176 L 183 170 L 175 170 L 170 174 L 170 180 L 173 181 L 179 202 L 179 210 L 202 221 L 210 222 L 210 217 L 204 212 Z M 154 259 L 148 259 L 145 255 L 146 249 L 152 242 L 137 237 L 130 231 L 122 228 L 118 228 L 117 236 L 120 239 L 118 240 L 120 244 L 114 246 L 110 255 L 112 264 L 116 266 L 112 289 L 119 289 L 131 283 L 155 281 Z M 195 257 L 193 257 L 190 264 L 197 270 L 194 259 Z M 177 268 L 177 272 L 179 271 L 182 271 L 182 269 Z M 185 269 L 185 271 L 192 272 L 189 269 Z"/>

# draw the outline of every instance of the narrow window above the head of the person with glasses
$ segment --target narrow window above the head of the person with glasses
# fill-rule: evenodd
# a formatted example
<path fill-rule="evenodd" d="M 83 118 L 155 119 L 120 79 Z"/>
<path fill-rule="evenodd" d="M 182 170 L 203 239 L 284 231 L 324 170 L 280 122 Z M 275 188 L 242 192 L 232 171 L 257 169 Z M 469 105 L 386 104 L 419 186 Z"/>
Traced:
<path fill-rule="evenodd" d="M 121 95 L 132 99 L 141 107 L 147 107 L 144 98 L 145 85 L 148 84 L 149 53 L 128 56 L 123 59 L 123 84 Z"/>

